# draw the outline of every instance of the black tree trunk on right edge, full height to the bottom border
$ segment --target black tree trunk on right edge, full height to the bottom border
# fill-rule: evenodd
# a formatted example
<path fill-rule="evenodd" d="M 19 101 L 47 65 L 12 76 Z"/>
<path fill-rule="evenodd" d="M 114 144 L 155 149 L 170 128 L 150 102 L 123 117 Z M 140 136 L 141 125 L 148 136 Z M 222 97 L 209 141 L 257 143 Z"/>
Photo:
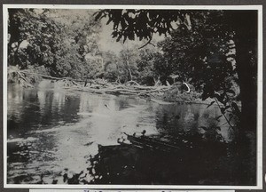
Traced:
<path fill-rule="evenodd" d="M 256 180 L 257 22 L 255 11 L 231 14 L 242 105 L 237 139 L 239 185 L 255 185 Z"/>

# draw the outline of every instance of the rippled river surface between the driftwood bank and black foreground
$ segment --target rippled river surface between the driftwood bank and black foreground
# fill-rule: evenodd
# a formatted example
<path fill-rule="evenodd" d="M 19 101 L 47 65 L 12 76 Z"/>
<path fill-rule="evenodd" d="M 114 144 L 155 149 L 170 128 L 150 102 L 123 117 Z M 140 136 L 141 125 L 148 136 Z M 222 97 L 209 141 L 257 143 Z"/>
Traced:
<path fill-rule="evenodd" d="M 219 108 L 168 104 L 136 96 L 93 94 L 41 83 L 35 89 L 9 84 L 7 92 L 7 182 L 34 183 L 68 169 L 80 172 L 98 144 L 116 145 L 122 132 L 194 131 L 221 126 L 231 133 Z M 223 126 L 222 126 L 223 125 Z"/>

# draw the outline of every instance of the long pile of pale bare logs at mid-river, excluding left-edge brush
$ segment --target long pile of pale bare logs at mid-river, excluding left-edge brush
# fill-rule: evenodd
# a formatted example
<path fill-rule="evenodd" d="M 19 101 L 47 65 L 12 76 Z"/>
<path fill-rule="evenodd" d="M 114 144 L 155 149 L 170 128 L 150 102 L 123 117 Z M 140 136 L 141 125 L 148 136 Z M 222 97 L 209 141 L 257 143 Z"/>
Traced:
<path fill-rule="evenodd" d="M 68 90 L 75 90 L 79 92 L 92 92 L 98 94 L 114 94 L 114 95 L 136 95 L 147 100 L 153 100 L 158 103 L 194 103 L 208 105 L 213 101 L 211 98 L 207 100 L 201 99 L 201 92 L 196 92 L 192 89 L 190 92 L 181 90 L 172 85 L 160 86 L 145 86 L 137 84 L 136 82 L 129 82 L 128 84 L 108 83 L 105 80 L 97 79 L 90 81 L 86 86 L 84 84 L 76 84 L 74 82 L 58 82 L 59 86 Z M 188 84 L 192 87 L 191 84 Z"/>

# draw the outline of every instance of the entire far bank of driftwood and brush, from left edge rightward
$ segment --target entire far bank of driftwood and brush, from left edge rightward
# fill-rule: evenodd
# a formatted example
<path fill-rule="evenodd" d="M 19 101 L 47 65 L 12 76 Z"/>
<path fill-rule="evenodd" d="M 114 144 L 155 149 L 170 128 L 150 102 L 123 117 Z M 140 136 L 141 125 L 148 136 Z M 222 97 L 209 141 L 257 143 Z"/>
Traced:
<path fill-rule="evenodd" d="M 201 99 L 202 92 L 197 92 L 192 84 L 175 83 L 168 85 L 146 86 L 138 84 L 136 81 L 129 81 L 125 84 L 110 83 L 105 79 L 71 79 L 59 78 L 47 75 L 40 75 L 31 70 L 20 70 L 19 68 L 8 68 L 8 82 L 20 84 L 23 87 L 34 88 L 43 81 L 49 84 L 55 84 L 57 87 L 78 91 L 78 92 L 92 92 L 98 94 L 114 94 L 114 95 L 136 95 L 148 100 L 160 100 L 160 102 L 170 103 L 198 103 L 210 104 L 213 99 Z M 189 90 L 187 90 L 189 89 Z"/>

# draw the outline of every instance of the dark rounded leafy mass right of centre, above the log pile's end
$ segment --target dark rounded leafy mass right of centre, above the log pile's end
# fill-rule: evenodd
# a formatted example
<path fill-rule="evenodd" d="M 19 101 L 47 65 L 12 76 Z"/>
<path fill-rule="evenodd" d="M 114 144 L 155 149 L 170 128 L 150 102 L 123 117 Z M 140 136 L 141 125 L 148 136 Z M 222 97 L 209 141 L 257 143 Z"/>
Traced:
<path fill-rule="evenodd" d="M 190 79 L 198 89 L 204 85 L 220 91 L 230 84 L 226 78 L 235 74 L 229 60 L 232 56 L 228 56 L 232 52 L 228 45 L 230 38 L 216 34 L 223 28 L 222 24 L 213 25 L 217 18 L 220 14 L 216 12 L 195 12 L 190 30 L 177 28 L 159 44 L 172 73 L 181 81 Z"/>

